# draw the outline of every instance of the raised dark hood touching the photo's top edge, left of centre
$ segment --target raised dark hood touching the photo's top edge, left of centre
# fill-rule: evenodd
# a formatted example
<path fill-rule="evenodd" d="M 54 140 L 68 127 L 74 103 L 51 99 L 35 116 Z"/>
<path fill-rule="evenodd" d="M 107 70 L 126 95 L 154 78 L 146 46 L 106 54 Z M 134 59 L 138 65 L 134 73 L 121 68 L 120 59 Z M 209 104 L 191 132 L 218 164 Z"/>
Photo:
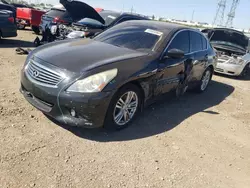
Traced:
<path fill-rule="evenodd" d="M 105 23 L 103 18 L 96 12 L 96 10 L 88 4 L 76 0 L 60 0 L 60 3 L 69 12 L 74 21 L 83 18 L 92 18 L 101 23 Z"/>

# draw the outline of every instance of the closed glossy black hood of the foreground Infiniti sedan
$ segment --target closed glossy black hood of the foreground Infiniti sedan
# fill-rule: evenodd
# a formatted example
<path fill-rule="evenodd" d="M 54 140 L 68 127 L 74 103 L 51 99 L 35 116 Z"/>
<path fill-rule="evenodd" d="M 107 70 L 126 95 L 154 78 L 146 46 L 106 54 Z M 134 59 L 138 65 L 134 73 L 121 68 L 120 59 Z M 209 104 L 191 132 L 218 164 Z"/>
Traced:
<path fill-rule="evenodd" d="M 61 69 L 77 73 L 105 64 L 147 56 L 147 53 L 91 39 L 77 39 L 40 46 L 31 55 Z"/>

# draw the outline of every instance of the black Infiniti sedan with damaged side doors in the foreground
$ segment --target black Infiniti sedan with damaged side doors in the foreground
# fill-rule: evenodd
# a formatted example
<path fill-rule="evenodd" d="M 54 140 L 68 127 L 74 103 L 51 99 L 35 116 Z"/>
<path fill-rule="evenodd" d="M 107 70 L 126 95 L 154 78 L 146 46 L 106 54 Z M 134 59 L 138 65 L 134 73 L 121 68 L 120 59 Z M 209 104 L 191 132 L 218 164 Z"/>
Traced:
<path fill-rule="evenodd" d="M 165 22 L 128 21 L 93 39 L 36 48 L 21 71 L 20 91 L 60 123 L 117 130 L 156 98 L 178 93 L 182 83 L 204 92 L 215 57 L 200 31 Z M 188 65 L 192 69 L 187 75 Z"/>

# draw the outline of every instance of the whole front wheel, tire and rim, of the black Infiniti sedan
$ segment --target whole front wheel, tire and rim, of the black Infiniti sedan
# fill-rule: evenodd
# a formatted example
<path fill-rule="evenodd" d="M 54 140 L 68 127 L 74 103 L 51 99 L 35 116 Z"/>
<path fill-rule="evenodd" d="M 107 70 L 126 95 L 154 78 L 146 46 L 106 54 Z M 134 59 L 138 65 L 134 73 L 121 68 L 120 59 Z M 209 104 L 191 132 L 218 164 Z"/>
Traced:
<path fill-rule="evenodd" d="M 140 107 L 140 89 L 133 84 L 122 87 L 111 100 L 104 127 L 109 130 L 126 128 L 134 120 Z"/>

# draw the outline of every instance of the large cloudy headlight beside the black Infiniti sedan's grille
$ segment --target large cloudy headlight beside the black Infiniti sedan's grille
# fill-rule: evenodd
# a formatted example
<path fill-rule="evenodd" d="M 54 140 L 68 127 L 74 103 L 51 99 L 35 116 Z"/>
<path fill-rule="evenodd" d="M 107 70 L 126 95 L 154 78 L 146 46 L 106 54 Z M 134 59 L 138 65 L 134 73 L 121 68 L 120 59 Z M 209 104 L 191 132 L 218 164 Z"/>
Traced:
<path fill-rule="evenodd" d="M 106 85 L 117 76 L 117 73 L 117 69 L 112 69 L 89 76 L 76 81 L 67 89 L 67 91 L 80 93 L 101 92 L 104 87 L 106 87 Z"/>

